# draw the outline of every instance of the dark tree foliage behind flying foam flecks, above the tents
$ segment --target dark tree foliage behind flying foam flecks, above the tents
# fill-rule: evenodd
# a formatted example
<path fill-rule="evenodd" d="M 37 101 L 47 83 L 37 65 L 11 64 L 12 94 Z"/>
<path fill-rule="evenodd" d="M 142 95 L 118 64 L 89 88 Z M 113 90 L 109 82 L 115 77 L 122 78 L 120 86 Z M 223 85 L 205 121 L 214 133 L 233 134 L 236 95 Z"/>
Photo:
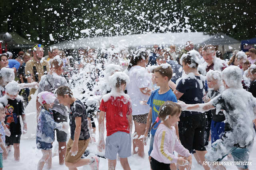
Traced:
<path fill-rule="evenodd" d="M 238 40 L 256 35 L 254 0 L 8 0 L 0 10 L 1 32 L 45 45 L 166 31 L 223 32 Z"/>

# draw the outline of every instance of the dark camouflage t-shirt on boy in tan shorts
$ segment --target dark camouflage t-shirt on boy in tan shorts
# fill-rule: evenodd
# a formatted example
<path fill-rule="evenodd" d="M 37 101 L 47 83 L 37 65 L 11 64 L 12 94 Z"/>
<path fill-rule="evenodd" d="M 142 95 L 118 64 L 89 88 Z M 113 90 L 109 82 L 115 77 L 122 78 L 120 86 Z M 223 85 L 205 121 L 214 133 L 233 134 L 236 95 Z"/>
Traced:
<path fill-rule="evenodd" d="M 79 141 L 89 139 L 90 134 L 88 129 L 86 108 L 80 100 L 76 100 L 74 103 L 70 105 L 69 125 L 70 125 L 70 133 L 71 133 L 70 137 L 73 141 L 74 141 L 74 134 L 76 129 L 76 122 L 75 122 L 76 117 L 81 117 L 82 119 Z"/>

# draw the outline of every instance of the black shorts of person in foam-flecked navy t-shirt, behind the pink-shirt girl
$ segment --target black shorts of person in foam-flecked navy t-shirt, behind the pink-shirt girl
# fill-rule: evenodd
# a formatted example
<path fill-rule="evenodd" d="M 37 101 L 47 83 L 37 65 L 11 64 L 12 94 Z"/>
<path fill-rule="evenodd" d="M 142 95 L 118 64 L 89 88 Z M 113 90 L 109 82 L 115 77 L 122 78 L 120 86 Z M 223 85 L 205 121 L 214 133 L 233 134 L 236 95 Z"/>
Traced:
<path fill-rule="evenodd" d="M 180 116 L 179 137 L 181 144 L 189 150 L 206 150 L 204 147 L 205 114 Z"/>

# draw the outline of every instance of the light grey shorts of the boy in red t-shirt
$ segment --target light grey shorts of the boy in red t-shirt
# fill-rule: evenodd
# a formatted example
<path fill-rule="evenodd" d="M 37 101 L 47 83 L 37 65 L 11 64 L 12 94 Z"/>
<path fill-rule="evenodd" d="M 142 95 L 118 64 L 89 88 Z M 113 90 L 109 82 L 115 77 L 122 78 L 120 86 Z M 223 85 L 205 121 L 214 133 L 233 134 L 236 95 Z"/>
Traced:
<path fill-rule="evenodd" d="M 126 132 L 116 132 L 106 138 L 105 157 L 116 160 L 116 155 L 120 158 L 127 158 L 132 155 L 131 135 Z"/>

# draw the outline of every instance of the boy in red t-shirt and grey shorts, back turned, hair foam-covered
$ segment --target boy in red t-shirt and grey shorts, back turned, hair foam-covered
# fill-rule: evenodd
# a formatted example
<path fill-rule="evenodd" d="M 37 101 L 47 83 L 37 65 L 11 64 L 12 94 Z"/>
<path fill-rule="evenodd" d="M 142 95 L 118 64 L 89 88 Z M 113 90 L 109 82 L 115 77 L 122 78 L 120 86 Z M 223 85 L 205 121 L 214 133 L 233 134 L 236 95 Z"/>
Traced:
<path fill-rule="evenodd" d="M 100 152 L 104 149 L 104 120 L 106 115 L 106 149 L 108 169 L 116 167 L 116 155 L 120 156 L 120 163 L 124 170 L 130 170 L 127 158 L 132 155 L 132 107 L 131 100 L 124 94 L 129 77 L 124 72 L 115 72 L 109 77 L 112 90 L 102 97 L 99 119 Z"/>

